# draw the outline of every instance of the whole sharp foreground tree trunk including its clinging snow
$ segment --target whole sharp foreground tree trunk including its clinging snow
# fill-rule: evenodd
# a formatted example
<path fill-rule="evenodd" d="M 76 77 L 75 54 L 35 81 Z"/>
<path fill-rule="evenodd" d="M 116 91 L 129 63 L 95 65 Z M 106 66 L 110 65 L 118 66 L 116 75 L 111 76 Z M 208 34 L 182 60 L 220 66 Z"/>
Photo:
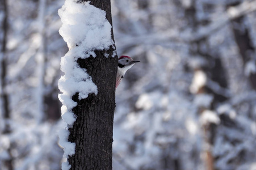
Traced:
<path fill-rule="evenodd" d="M 66 0 L 58 11 L 69 52 L 61 58 L 58 87 L 66 128 L 62 169 L 112 169 L 117 56 L 110 1 Z"/>

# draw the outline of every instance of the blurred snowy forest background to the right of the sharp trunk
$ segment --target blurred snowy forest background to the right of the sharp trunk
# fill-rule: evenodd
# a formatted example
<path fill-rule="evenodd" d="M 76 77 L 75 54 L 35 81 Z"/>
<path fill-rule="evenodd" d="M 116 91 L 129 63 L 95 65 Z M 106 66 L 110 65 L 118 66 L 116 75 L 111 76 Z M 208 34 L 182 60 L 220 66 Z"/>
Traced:
<path fill-rule="evenodd" d="M 117 89 L 115 127 L 121 128 L 114 129 L 114 167 L 253 167 L 255 91 L 246 88 L 229 23 L 244 15 L 241 25 L 254 32 L 255 2 L 234 8 L 226 8 L 229 1 L 152 0 L 146 8 L 136 2 L 114 3 L 117 53 L 145 63 Z M 250 66 L 254 70 L 255 63 Z"/>

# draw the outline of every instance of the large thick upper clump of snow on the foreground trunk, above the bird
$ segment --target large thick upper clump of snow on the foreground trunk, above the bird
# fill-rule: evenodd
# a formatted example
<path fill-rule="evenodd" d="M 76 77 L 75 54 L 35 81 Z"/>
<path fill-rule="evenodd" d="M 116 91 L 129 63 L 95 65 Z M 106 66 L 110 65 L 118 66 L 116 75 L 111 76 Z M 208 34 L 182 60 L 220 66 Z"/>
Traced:
<path fill-rule="evenodd" d="M 106 19 L 105 11 L 89 2 L 77 3 L 68 0 L 58 10 L 58 14 L 63 23 L 59 32 L 69 49 L 79 45 L 81 52 L 91 52 L 95 49 L 108 49 L 113 45 L 111 24 Z"/>

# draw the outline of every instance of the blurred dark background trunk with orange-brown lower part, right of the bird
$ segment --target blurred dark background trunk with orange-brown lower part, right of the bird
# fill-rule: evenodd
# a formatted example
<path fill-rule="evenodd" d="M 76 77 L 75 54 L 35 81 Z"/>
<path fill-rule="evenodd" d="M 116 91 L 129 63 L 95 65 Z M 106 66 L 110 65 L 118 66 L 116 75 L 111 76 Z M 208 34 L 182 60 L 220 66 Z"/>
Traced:
<path fill-rule="evenodd" d="M 209 24 L 209 20 L 198 20 L 196 18 L 196 0 L 191 1 L 191 5 L 185 9 L 185 14 L 187 17 L 188 25 L 192 30 L 196 31 L 200 25 Z M 203 115 L 204 111 L 215 111 L 216 106 L 228 99 L 228 96 L 222 94 L 219 89 L 226 89 L 228 87 L 228 82 L 226 81 L 225 70 L 223 64 L 221 63 L 221 58 L 219 53 L 210 48 L 208 37 L 210 34 L 202 39 L 191 41 L 190 54 L 191 56 L 196 56 L 204 59 L 205 64 L 196 66 L 194 69 L 194 76 L 196 73 L 203 73 L 206 78 L 205 84 L 194 91 L 195 95 L 212 95 L 213 100 L 211 105 L 208 107 L 199 107 L 200 116 Z M 206 48 L 206 50 L 205 50 Z M 216 84 L 219 88 L 213 88 L 212 84 Z M 204 145 L 208 147 L 203 148 L 204 164 L 205 169 L 213 170 L 215 169 L 215 158 L 212 154 L 212 146 L 214 145 L 216 125 L 209 122 L 208 124 L 202 124 L 202 134 L 204 139 Z"/>

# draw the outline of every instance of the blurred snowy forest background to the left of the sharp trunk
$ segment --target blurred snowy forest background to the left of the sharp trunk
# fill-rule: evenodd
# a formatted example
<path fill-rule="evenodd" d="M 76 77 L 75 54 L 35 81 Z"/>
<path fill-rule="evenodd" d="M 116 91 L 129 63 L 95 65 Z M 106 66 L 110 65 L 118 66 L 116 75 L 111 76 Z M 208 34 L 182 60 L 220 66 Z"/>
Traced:
<path fill-rule="evenodd" d="M 9 98 L 9 118 L 4 118 L 1 107 L 1 168 L 3 160 L 11 159 L 14 169 L 60 169 L 63 151 L 57 145 L 56 128 L 62 122 L 56 96 L 60 56 L 66 51 L 57 32 L 60 5 L 56 1 L 5 2 L 11 10 L 5 36 L 8 55 L 1 69 L 6 69 L 3 94 Z M 2 133 L 3 125 L 9 125 L 11 133 Z"/>

